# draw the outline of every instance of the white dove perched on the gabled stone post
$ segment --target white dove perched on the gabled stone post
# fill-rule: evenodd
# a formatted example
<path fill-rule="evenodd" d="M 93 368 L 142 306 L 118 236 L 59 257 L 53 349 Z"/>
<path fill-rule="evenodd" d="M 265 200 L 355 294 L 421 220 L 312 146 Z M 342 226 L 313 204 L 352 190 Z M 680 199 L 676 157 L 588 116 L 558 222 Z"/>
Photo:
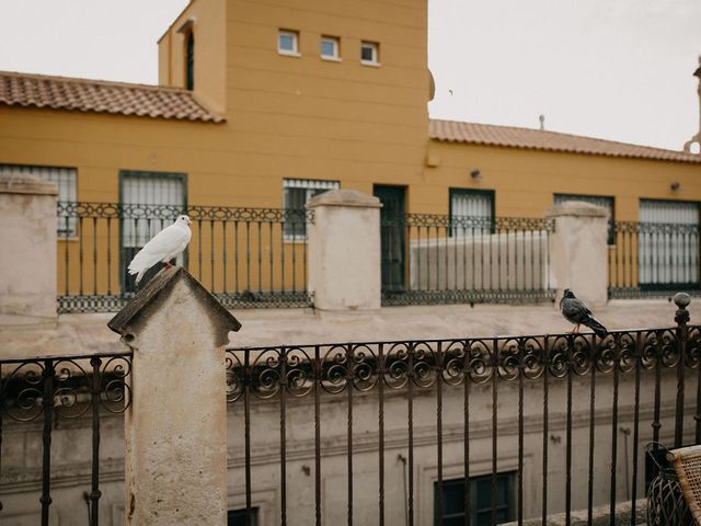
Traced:
<path fill-rule="evenodd" d="M 165 227 L 139 250 L 131 263 L 129 263 L 129 274 L 138 274 L 136 283 L 138 284 L 146 271 L 156 265 L 159 261 L 171 266 L 170 261 L 180 254 L 187 243 L 193 232 L 188 225 L 193 221 L 187 216 L 180 216 L 170 227 Z"/>

